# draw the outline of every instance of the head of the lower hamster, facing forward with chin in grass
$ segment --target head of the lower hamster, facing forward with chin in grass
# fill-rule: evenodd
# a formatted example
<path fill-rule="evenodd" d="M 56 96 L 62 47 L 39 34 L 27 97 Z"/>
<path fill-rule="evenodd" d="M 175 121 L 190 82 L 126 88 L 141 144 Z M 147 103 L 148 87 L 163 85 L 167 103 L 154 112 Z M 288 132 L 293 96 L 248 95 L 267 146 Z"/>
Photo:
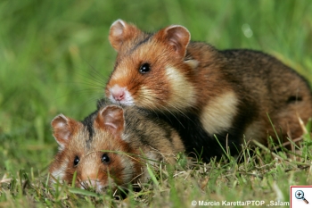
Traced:
<path fill-rule="evenodd" d="M 140 167 L 132 156 L 125 154 L 134 151 L 123 139 L 122 108 L 109 105 L 100 109 L 91 121 L 84 125 L 62 114 L 53 119 L 53 137 L 59 144 L 59 153 L 49 170 L 52 182 L 75 183 L 76 187 L 93 187 L 97 192 L 109 185 L 126 185 Z M 77 177 L 73 181 L 75 172 Z"/>

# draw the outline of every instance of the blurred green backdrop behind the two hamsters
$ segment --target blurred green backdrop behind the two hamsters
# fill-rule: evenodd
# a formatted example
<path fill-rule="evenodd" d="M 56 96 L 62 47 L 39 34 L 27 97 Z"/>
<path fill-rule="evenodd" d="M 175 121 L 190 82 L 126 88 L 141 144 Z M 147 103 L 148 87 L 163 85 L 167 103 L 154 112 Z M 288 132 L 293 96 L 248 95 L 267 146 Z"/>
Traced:
<path fill-rule="evenodd" d="M 147 31 L 181 24 L 193 40 L 265 51 L 312 81 L 309 0 L 2 0 L 0 178 L 45 173 L 57 151 L 53 117 L 94 111 L 114 64 L 108 33 L 117 19 Z"/>

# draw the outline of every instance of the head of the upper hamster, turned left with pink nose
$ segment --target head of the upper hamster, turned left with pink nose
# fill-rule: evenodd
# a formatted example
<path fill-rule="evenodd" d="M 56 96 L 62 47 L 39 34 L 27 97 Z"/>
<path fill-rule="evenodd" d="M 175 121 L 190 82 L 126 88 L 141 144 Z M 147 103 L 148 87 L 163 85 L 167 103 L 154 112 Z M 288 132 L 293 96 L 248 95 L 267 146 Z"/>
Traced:
<path fill-rule="evenodd" d="M 185 58 L 190 37 L 179 25 L 149 34 L 125 21 L 113 22 L 109 39 L 118 56 L 106 96 L 115 104 L 151 110 L 192 106 L 195 93 L 190 79 L 197 61 Z"/>

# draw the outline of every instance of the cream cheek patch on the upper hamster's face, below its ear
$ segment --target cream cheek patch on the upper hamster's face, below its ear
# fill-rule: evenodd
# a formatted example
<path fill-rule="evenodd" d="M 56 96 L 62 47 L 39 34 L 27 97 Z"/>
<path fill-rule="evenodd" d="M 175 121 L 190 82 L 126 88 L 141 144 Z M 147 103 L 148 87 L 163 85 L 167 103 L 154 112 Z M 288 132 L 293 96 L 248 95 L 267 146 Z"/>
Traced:
<path fill-rule="evenodd" d="M 166 76 L 172 90 L 168 104 L 177 108 L 193 106 L 196 102 L 195 89 L 193 84 L 185 79 L 177 69 L 172 67 L 166 68 Z M 172 110 L 176 110 L 173 108 Z"/>

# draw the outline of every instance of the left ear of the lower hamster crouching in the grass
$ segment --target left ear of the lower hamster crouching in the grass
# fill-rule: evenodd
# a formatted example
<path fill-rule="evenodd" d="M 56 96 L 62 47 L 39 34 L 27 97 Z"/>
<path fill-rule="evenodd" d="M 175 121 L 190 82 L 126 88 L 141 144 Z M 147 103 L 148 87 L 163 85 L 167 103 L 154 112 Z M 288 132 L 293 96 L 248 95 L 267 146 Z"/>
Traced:
<path fill-rule="evenodd" d="M 61 147 L 64 147 L 68 143 L 70 135 L 73 133 L 70 127 L 70 122 L 72 121 L 63 114 L 59 114 L 51 122 L 53 137 Z"/>

